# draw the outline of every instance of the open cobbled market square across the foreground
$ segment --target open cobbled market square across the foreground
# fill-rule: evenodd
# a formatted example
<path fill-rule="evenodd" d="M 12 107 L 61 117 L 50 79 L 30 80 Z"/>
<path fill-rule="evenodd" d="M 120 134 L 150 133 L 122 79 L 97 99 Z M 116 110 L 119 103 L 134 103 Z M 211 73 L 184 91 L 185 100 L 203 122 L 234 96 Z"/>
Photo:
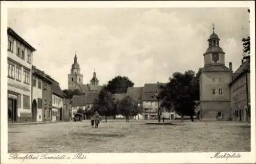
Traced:
<path fill-rule="evenodd" d="M 89 121 L 8 128 L 8 153 L 127 153 L 250 151 L 250 125 L 230 122 Z M 28 138 L 29 135 L 29 138 Z"/>

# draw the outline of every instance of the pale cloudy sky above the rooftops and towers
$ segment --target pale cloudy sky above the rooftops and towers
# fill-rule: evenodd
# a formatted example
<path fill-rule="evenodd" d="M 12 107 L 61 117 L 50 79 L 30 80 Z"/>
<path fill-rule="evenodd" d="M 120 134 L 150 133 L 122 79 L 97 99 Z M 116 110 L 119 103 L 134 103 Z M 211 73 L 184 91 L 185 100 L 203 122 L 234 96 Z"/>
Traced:
<path fill-rule="evenodd" d="M 8 10 L 8 26 L 37 49 L 33 65 L 61 89 L 68 87 L 75 51 L 84 84 L 94 69 L 100 85 L 121 75 L 138 87 L 164 83 L 176 71 L 198 71 L 212 23 L 226 62 L 237 69 L 248 20 L 246 8 Z"/>

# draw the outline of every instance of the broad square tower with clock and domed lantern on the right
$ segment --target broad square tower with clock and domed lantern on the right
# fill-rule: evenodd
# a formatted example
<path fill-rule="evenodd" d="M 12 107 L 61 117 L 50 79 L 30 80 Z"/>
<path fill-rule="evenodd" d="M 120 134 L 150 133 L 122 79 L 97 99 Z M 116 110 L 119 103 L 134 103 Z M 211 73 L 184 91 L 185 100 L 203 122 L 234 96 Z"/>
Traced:
<path fill-rule="evenodd" d="M 204 67 L 200 75 L 200 117 L 202 119 L 226 119 L 230 116 L 229 87 L 231 68 L 225 66 L 225 52 L 220 39 L 213 32 L 208 48 L 203 54 Z M 231 63 L 229 64 L 231 67 Z"/>

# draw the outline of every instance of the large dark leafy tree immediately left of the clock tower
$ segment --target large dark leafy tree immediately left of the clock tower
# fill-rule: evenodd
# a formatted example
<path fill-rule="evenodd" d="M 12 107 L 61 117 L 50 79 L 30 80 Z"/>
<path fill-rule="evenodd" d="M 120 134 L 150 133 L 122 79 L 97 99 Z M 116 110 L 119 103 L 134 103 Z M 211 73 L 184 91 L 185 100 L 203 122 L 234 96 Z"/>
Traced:
<path fill-rule="evenodd" d="M 198 99 L 199 85 L 195 72 L 192 70 L 184 73 L 175 72 L 173 77 L 169 78 L 169 83 L 160 92 L 163 106 L 166 108 L 174 107 L 175 112 L 181 115 L 181 121 L 184 116 L 190 116 L 194 121 L 195 100 Z"/>

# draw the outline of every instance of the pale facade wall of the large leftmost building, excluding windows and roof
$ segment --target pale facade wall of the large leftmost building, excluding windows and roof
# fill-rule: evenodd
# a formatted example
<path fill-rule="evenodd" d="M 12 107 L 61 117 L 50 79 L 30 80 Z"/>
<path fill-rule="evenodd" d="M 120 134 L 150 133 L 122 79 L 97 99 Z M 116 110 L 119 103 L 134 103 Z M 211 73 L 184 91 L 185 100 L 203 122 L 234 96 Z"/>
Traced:
<path fill-rule="evenodd" d="M 10 50 L 8 50 L 8 63 L 12 64 L 14 66 L 14 78 L 8 77 L 8 91 L 13 92 L 16 94 L 18 103 L 17 108 L 17 122 L 30 122 L 32 121 L 32 111 L 31 111 L 31 68 L 32 68 L 32 51 L 30 51 L 28 48 L 26 48 L 24 45 L 20 46 L 20 48 L 24 47 L 24 59 L 22 57 L 18 57 L 16 55 L 17 52 L 17 41 L 10 37 L 8 35 L 8 38 L 13 40 L 13 46 Z M 8 40 L 9 40 L 8 39 Z M 21 52 L 21 51 L 20 51 Z M 30 54 L 30 63 L 28 63 L 28 52 L 31 52 Z M 21 55 L 21 54 L 20 54 Z M 17 76 L 17 68 L 20 68 L 20 76 Z M 25 76 L 24 76 L 24 70 L 27 70 L 29 72 L 29 79 L 28 84 L 25 84 Z M 9 74 L 9 69 L 8 69 Z M 19 80 L 20 81 L 19 81 Z M 11 94 L 11 93 L 10 93 Z M 24 95 L 29 96 L 30 101 L 29 107 L 24 107 Z M 8 94 L 9 96 L 9 94 Z"/>

